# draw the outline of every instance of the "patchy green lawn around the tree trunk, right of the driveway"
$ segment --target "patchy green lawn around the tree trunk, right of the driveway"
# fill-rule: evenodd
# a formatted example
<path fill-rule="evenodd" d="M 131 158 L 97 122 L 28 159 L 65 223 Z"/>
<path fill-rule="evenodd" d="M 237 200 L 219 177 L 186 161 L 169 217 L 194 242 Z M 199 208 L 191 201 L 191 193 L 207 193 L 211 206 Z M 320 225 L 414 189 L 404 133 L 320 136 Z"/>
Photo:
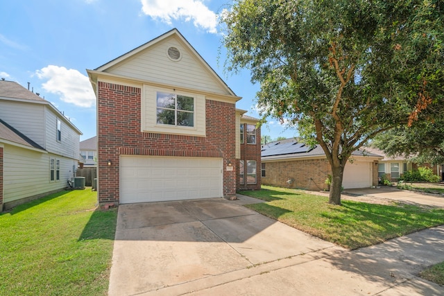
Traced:
<path fill-rule="evenodd" d="M 352 200 L 335 206 L 323 196 L 271 186 L 240 193 L 267 201 L 246 207 L 350 250 L 444 224 L 444 209 Z"/>

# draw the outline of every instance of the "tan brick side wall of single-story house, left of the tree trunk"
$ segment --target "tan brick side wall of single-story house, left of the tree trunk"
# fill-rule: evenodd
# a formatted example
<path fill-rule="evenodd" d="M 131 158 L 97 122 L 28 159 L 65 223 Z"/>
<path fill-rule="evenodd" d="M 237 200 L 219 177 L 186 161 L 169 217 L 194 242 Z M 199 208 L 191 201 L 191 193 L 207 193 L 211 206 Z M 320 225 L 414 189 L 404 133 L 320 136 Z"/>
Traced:
<path fill-rule="evenodd" d="M 327 159 L 300 159 L 297 161 L 266 162 L 266 177 L 262 184 L 307 189 L 325 190 L 325 179 L 331 174 Z M 293 180 L 290 184 L 288 180 Z"/>

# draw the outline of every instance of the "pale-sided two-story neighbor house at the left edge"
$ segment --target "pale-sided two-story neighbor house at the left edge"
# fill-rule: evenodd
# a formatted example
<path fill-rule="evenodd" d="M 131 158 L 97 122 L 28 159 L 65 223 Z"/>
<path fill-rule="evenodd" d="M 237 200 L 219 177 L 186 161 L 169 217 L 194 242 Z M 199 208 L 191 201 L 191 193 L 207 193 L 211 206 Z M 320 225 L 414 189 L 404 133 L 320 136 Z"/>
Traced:
<path fill-rule="evenodd" d="M 51 103 L 0 80 L 0 210 L 64 189 L 77 168 L 80 134 Z"/>

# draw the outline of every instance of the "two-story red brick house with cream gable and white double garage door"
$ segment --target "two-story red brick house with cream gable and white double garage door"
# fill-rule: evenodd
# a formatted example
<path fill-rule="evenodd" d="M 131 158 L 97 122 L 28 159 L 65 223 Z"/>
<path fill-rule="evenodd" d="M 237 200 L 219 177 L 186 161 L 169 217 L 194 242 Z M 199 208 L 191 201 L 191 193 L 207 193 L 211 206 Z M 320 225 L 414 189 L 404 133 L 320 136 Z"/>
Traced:
<path fill-rule="evenodd" d="M 87 72 L 99 203 L 235 195 L 241 98 L 176 29 Z"/>

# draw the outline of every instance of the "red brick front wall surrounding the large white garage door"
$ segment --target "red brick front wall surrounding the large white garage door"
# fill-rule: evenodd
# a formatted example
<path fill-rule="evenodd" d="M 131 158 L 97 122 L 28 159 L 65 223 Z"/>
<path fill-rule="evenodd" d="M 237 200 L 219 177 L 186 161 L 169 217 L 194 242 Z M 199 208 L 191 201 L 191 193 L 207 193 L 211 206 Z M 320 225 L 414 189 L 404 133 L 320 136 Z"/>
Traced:
<path fill-rule="evenodd" d="M 223 195 L 236 193 L 235 105 L 207 100 L 206 136 L 141 132 L 141 89 L 98 82 L 99 202 L 119 202 L 119 155 L 223 157 Z M 112 166 L 108 166 L 108 159 Z"/>

